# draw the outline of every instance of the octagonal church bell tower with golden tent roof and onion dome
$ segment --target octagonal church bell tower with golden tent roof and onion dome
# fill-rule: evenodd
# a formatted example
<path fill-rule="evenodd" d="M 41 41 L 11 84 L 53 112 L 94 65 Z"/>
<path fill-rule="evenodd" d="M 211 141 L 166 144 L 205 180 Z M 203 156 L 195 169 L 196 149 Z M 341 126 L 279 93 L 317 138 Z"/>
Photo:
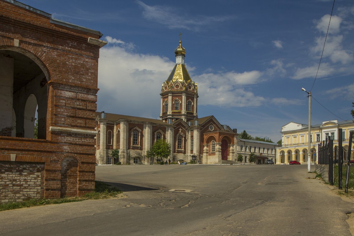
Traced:
<path fill-rule="evenodd" d="M 179 40 L 175 49 L 176 64 L 170 76 L 161 88 L 160 119 L 166 121 L 169 117 L 181 118 L 185 122 L 198 118 L 197 83 L 190 79 L 184 64 L 185 49 Z"/>

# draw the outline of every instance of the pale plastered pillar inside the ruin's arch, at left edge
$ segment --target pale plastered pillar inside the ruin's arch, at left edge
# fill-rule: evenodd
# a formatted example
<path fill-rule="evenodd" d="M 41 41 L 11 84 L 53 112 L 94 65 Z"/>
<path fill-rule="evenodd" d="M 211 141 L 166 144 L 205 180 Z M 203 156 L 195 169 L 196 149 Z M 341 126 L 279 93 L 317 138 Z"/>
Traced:
<path fill-rule="evenodd" d="M 0 54 L 0 136 L 11 136 L 13 107 L 13 58 Z"/>

